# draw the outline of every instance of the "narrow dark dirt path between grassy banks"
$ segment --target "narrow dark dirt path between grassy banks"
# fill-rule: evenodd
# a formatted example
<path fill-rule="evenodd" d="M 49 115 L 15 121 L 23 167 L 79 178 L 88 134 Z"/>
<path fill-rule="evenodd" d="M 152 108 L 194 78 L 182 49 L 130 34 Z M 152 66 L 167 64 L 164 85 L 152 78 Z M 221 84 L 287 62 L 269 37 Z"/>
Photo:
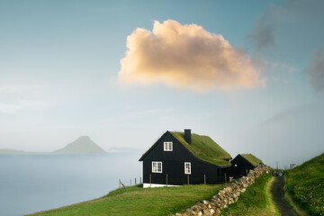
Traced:
<path fill-rule="evenodd" d="M 275 204 L 278 207 L 281 215 L 284 216 L 296 216 L 297 214 L 284 202 L 283 194 L 283 177 L 276 177 L 275 183 L 271 192 L 273 193 Z"/>

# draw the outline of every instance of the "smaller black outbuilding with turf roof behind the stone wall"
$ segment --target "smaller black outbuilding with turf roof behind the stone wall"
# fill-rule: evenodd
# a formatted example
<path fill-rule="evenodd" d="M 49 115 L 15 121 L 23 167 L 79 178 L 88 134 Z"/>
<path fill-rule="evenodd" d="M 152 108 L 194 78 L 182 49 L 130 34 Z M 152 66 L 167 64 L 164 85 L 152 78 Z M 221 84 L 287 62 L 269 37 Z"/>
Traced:
<path fill-rule="evenodd" d="M 250 169 L 254 169 L 257 165 L 263 164 L 262 160 L 252 154 L 238 154 L 230 163 L 232 165 L 232 175 L 235 178 L 247 175 Z"/>

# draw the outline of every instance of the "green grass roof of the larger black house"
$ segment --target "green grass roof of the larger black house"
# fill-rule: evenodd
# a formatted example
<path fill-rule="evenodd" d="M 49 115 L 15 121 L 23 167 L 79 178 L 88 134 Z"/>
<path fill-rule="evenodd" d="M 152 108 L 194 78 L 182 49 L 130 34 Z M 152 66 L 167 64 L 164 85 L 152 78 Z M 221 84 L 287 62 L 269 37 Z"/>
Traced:
<path fill-rule="evenodd" d="M 192 134 L 192 144 L 184 140 L 184 132 L 171 132 L 195 157 L 217 166 L 230 166 L 230 155 L 208 136 Z"/>

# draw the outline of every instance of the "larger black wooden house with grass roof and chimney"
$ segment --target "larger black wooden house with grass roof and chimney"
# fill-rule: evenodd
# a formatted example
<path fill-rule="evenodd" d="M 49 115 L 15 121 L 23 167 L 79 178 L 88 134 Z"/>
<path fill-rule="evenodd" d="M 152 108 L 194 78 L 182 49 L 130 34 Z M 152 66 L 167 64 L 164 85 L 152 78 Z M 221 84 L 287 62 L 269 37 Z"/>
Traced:
<path fill-rule="evenodd" d="M 230 155 L 207 136 L 166 131 L 145 152 L 143 186 L 217 184 L 229 179 Z"/>

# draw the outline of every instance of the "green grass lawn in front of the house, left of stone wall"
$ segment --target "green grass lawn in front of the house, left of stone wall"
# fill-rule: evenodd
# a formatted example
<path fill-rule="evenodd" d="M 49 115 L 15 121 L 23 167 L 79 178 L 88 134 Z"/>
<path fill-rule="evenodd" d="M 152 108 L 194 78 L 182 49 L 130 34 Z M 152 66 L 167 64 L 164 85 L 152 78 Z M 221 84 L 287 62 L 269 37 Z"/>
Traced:
<path fill-rule="evenodd" d="M 88 202 L 31 215 L 169 215 L 184 211 L 218 193 L 224 184 L 184 185 L 180 187 L 117 189 Z"/>

